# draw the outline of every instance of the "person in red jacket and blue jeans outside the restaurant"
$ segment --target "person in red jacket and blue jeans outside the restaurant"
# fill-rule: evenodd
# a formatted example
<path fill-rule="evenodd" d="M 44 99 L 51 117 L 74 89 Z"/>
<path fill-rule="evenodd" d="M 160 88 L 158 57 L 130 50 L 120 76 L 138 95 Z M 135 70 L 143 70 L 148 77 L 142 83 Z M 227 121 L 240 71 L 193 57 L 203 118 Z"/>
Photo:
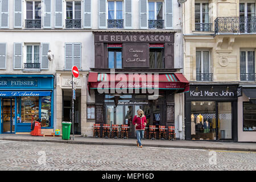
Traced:
<path fill-rule="evenodd" d="M 136 135 L 137 135 L 137 147 L 142 148 L 141 139 L 144 135 L 144 130 L 147 125 L 147 119 L 144 115 L 143 110 L 138 109 L 137 115 L 133 118 L 133 125 L 135 125 Z"/>

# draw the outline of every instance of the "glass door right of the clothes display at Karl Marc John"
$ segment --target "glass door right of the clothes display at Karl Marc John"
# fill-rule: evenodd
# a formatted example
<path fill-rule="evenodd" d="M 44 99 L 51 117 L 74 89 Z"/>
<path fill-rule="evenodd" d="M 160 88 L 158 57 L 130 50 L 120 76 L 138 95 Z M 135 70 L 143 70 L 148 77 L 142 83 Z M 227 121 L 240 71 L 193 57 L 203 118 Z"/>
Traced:
<path fill-rule="evenodd" d="M 231 102 L 218 102 L 218 139 L 232 139 Z"/>

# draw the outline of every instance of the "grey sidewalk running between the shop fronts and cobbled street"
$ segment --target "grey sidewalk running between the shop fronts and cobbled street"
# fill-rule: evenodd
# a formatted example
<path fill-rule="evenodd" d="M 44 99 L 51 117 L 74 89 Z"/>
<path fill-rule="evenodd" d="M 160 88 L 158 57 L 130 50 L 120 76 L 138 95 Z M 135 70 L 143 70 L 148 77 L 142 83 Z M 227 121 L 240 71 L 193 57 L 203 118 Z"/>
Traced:
<path fill-rule="evenodd" d="M 30 135 L 0 134 L 2 140 L 14 140 L 23 142 L 57 142 L 57 143 L 75 143 L 75 144 L 100 144 L 115 146 L 136 146 L 136 139 L 105 139 L 81 137 L 75 135 L 75 140 L 62 140 L 61 137 L 32 137 Z M 189 141 L 189 140 L 149 140 L 143 139 L 144 147 L 171 147 L 171 148 L 196 148 L 208 150 L 232 150 L 232 151 L 254 151 L 256 152 L 256 143 L 242 142 L 209 142 L 209 141 Z"/>

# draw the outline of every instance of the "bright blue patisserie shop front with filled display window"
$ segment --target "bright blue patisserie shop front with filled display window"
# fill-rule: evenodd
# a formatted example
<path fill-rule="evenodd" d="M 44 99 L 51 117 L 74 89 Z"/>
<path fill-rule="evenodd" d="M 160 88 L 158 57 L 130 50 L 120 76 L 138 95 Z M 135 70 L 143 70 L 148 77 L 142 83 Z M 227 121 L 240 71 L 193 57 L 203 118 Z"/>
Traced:
<path fill-rule="evenodd" d="M 53 129 L 53 75 L 0 75 L 0 133 L 31 131 L 40 118 Z"/>

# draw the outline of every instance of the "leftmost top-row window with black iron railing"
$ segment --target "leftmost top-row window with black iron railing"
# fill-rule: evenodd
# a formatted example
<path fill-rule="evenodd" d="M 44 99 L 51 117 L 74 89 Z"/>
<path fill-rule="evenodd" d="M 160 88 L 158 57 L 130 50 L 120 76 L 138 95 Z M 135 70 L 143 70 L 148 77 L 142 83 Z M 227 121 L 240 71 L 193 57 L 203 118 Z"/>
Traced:
<path fill-rule="evenodd" d="M 26 28 L 41 28 L 41 1 L 26 2 Z"/>

